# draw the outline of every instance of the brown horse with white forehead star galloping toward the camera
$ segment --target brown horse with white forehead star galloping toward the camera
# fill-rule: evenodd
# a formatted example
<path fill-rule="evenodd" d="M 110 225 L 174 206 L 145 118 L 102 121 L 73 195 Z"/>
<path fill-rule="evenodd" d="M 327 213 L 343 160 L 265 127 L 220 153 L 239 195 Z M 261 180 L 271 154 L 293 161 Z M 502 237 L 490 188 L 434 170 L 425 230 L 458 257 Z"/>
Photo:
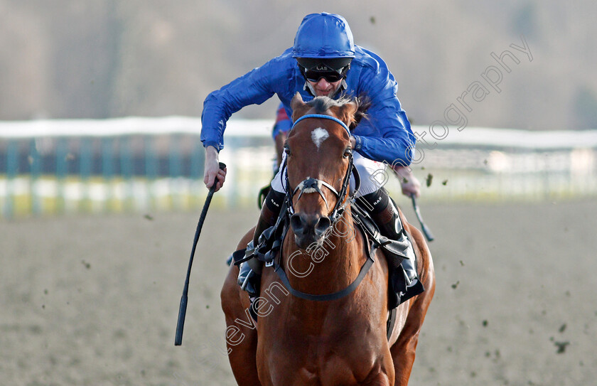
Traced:
<path fill-rule="evenodd" d="M 316 99 L 321 98 L 326 97 Z M 291 102 L 296 124 L 287 141 L 286 183 L 294 192 L 289 195 L 294 215 L 274 259 L 274 267 L 286 272 L 287 282 L 282 285 L 274 267 L 264 267 L 261 297 L 253 306 L 257 323 L 249 313 L 247 292 L 237 285 L 234 265 L 222 288 L 232 372 L 240 386 L 405 386 L 435 290 L 431 254 L 421 232 L 400 213 L 426 291 L 398 306 L 388 338 L 387 261 L 380 250 L 368 257 L 370 248 L 362 232 L 354 231 L 350 195 L 343 189 L 352 163 L 345 126 L 353 123 L 357 104 L 313 102 L 304 103 L 298 94 Z M 306 184 L 309 180 L 311 184 Z M 249 230 L 237 249 L 244 248 L 252 235 Z M 367 259 L 373 263 L 359 282 Z M 353 291 L 345 294 L 347 287 Z M 318 301 L 295 296 L 299 291 L 312 297 L 338 292 L 345 296 Z"/>

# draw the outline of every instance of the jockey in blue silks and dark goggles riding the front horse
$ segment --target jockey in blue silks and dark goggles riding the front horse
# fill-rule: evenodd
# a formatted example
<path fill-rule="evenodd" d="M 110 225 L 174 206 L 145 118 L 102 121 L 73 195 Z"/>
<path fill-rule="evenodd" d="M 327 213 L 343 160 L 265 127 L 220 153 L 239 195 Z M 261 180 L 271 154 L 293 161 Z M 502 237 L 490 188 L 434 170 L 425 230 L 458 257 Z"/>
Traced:
<path fill-rule="evenodd" d="M 355 150 L 354 163 L 361 179 L 357 200 L 365 203 L 380 233 L 394 240 L 394 250 L 402 251 L 405 258 L 392 270 L 394 275 L 404 276 L 406 282 L 406 290 L 397 293 L 398 303 L 401 303 L 424 289 L 414 265 L 414 250 L 398 210 L 375 178 L 387 164 L 408 166 L 414 154 L 414 134 L 396 96 L 397 87 L 394 75 L 382 58 L 354 44 L 353 33 L 345 18 L 325 12 L 310 14 L 303 18 L 291 48 L 208 95 L 201 115 L 201 141 L 205 147 L 204 182 L 210 188 L 217 176 L 217 191 L 226 176 L 225 169 L 219 168 L 218 152 L 223 147 L 226 122 L 232 113 L 249 104 L 261 104 L 274 94 L 281 100 L 288 117 L 292 115 L 290 102 L 296 92 L 305 101 L 318 96 L 366 95 L 371 102 L 367 119 L 362 119 L 350 136 Z M 247 257 L 252 256 L 259 235 L 274 225 L 279 215 L 286 195 L 279 177 L 271 182 L 254 239 L 247 245 Z M 261 269 L 262 263 L 254 258 L 241 264 L 239 283 L 247 289 L 249 296 L 257 294 L 254 284 Z"/>

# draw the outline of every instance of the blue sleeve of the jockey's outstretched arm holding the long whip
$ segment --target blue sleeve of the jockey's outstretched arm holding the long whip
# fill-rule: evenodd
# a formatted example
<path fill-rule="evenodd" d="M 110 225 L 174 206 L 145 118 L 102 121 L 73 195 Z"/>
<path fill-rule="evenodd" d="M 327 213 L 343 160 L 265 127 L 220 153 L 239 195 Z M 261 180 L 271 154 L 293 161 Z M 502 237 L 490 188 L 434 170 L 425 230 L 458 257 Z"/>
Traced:
<path fill-rule="evenodd" d="M 277 59 L 238 77 L 205 98 L 201 114 L 203 146 L 222 150 L 226 122 L 233 113 L 249 104 L 262 104 L 277 92 L 276 87 L 289 84 L 284 63 Z"/>

